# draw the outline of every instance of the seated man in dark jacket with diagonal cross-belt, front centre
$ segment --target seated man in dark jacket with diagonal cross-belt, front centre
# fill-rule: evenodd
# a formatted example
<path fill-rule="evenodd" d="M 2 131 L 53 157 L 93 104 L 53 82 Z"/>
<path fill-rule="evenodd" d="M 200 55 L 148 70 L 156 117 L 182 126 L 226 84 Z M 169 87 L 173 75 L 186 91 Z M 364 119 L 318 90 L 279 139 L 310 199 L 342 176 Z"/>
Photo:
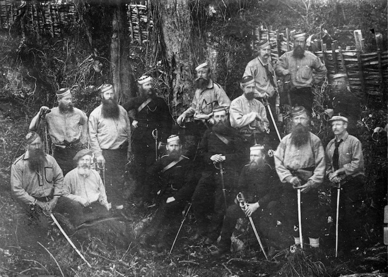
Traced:
<path fill-rule="evenodd" d="M 159 250 L 166 247 L 165 237 L 176 232 L 171 228 L 196 188 L 192 162 L 182 156 L 179 136 L 172 134 L 167 138 L 167 155 L 161 157 L 149 170 L 148 182 L 159 185 L 158 195 L 161 205 L 151 221 L 150 228 L 143 236 L 143 243 L 158 242 Z M 157 183 L 157 184 L 155 184 Z"/>

